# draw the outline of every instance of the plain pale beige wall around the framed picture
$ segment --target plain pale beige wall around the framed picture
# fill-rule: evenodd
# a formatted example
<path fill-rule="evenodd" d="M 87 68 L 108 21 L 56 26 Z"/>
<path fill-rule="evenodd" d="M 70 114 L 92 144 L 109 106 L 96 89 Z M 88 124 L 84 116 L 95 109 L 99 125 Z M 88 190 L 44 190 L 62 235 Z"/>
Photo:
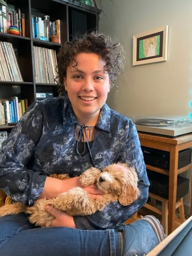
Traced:
<path fill-rule="evenodd" d="M 188 115 L 192 100 L 192 1 L 102 0 L 100 31 L 116 36 L 126 51 L 124 75 L 108 105 L 125 116 Z M 132 66 L 132 36 L 169 26 L 168 60 Z M 187 176 L 185 172 L 182 176 Z M 191 172 L 188 177 L 191 180 Z M 185 204 L 190 204 L 190 195 Z M 188 207 L 186 208 L 188 209 Z"/>

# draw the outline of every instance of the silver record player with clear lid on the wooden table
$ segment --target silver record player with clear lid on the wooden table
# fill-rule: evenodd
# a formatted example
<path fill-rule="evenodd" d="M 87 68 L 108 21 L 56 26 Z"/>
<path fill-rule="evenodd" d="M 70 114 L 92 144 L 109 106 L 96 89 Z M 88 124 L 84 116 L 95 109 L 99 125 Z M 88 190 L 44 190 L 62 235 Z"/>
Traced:
<path fill-rule="evenodd" d="M 190 116 L 129 116 L 138 132 L 176 137 L 192 132 Z"/>

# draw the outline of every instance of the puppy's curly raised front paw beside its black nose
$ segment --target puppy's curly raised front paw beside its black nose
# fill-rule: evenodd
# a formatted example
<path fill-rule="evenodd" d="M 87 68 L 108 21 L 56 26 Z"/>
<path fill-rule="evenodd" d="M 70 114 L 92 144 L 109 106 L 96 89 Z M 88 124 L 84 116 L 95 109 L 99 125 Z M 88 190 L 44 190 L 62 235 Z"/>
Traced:
<path fill-rule="evenodd" d="M 96 182 L 97 177 L 100 175 L 101 171 L 95 167 L 87 169 L 81 176 L 80 182 L 84 187 L 92 185 Z"/>

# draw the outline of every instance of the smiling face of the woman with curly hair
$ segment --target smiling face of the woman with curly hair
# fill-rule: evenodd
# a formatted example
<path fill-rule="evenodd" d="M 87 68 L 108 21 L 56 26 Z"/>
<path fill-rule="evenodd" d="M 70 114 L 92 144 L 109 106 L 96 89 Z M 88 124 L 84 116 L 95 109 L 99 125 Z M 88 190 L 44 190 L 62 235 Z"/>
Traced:
<path fill-rule="evenodd" d="M 79 53 L 76 61 L 77 66 L 70 65 L 64 78 L 74 112 L 78 118 L 99 115 L 110 89 L 105 62 L 96 53 Z"/>

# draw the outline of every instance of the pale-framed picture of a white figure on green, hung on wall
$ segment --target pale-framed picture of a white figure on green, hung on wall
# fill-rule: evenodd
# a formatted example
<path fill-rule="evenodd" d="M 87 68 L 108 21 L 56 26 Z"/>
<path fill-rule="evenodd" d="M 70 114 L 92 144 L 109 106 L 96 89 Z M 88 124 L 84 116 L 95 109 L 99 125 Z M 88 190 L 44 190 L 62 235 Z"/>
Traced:
<path fill-rule="evenodd" d="M 167 60 L 168 26 L 133 36 L 133 66 Z"/>

